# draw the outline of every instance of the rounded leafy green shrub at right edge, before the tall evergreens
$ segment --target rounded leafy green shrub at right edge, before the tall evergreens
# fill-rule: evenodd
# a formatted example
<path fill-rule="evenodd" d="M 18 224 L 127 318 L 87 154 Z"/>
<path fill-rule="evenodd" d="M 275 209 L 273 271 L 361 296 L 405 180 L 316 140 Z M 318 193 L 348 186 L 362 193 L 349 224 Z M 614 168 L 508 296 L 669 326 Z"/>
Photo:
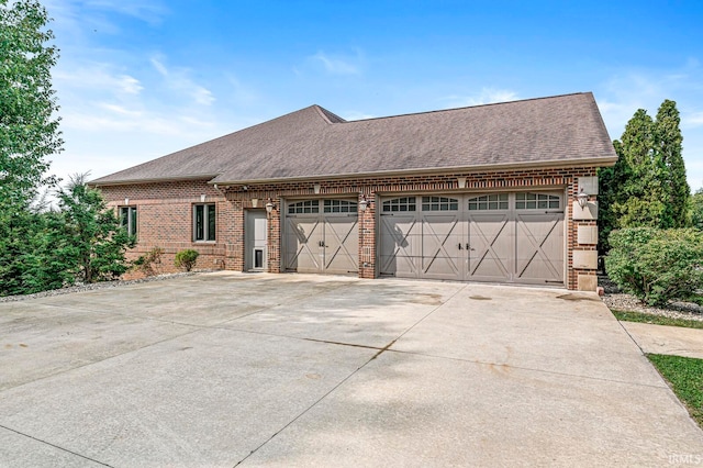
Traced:
<path fill-rule="evenodd" d="M 609 241 L 607 275 L 625 292 L 650 305 L 700 300 L 703 232 L 628 227 L 613 231 Z"/>

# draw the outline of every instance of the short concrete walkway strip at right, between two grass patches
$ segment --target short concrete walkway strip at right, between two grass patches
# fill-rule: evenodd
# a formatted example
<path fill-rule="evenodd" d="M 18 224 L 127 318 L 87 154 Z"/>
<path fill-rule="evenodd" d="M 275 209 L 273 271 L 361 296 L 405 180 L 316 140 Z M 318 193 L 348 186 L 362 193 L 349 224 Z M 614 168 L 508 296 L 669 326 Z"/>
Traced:
<path fill-rule="evenodd" d="M 703 359 L 703 330 L 701 328 L 639 322 L 621 323 L 645 353 Z"/>

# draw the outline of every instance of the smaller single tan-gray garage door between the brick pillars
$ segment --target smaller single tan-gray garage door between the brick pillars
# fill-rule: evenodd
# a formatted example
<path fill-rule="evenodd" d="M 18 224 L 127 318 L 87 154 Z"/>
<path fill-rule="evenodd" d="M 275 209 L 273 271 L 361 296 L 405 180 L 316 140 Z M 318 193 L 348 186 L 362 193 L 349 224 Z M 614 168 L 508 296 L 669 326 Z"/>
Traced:
<path fill-rule="evenodd" d="M 298 272 L 357 272 L 357 225 L 355 200 L 289 202 L 283 229 L 283 268 Z"/>

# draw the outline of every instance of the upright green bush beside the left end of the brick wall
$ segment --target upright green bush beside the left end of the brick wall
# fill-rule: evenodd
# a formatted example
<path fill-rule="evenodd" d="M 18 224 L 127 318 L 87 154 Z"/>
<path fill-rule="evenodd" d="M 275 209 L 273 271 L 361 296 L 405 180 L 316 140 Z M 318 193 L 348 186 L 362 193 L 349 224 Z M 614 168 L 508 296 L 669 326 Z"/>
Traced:
<path fill-rule="evenodd" d="M 129 269 L 125 253 L 136 239 L 120 226 L 100 192 L 83 183 L 85 178 L 74 176 L 69 186 L 58 191 L 64 235 L 71 239 L 60 254 L 68 271 L 83 282 L 114 279 Z"/>

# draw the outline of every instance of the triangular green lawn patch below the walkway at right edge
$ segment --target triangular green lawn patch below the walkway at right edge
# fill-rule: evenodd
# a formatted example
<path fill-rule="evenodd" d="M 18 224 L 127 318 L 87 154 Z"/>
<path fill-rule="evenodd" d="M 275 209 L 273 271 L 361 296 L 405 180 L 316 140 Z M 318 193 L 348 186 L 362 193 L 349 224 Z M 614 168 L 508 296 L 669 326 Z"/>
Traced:
<path fill-rule="evenodd" d="M 647 357 L 687 405 L 691 417 L 703 427 L 703 359 L 661 354 Z"/>

